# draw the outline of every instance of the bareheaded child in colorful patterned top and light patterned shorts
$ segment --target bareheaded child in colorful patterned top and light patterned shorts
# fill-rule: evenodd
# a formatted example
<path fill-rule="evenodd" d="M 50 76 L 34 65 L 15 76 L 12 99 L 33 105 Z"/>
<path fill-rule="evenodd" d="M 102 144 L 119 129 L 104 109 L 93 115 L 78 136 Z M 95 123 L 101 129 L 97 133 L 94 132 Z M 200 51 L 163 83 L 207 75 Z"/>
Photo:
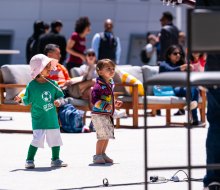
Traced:
<path fill-rule="evenodd" d="M 99 60 L 96 65 L 98 77 L 92 90 L 92 123 L 96 129 L 97 143 L 96 155 L 93 156 L 95 164 L 113 163 L 105 151 L 109 139 L 114 139 L 113 114 L 115 107 L 122 106 L 122 102 L 114 99 L 113 77 L 115 63 L 110 59 Z"/>

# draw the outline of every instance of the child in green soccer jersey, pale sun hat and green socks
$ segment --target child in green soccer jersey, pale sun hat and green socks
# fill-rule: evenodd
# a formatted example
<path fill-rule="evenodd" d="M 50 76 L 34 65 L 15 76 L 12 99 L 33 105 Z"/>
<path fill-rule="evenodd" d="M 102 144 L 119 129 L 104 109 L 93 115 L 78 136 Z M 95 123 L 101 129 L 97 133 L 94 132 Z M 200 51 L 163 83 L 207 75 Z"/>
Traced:
<path fill-rule="evenodd" d="M 25 168 L 35 168 L 34 157 L 38 148 L 44 147 L 44 140 L 52 148 L 51 167 L 66 167 L 60 160 L 60 146 L 62 139 L 56 107 L 63 102 L 63 92 L 58 85 L 47 79 L 54 59 L 43 54 L 37 54 L 30 60 L 31 76 L 33 80 L 27 85 L 24 97 L 16 97 L 17 102 L 31 105 L 33 140 L 29 146 Z"/>

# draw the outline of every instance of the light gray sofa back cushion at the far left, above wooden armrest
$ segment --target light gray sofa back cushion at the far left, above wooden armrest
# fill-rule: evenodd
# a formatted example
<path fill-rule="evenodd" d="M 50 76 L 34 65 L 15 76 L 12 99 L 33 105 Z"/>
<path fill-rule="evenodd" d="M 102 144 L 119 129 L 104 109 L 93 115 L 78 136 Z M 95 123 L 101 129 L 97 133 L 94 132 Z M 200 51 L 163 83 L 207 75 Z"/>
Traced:
<path fill-rule="evenodd" d="M 1 67 L 5 84 L 28 84 L 31 78 L 29 65 L 3 65 Z M 6 88 L 6 100 L 12 100 L 22 88 Z"/>

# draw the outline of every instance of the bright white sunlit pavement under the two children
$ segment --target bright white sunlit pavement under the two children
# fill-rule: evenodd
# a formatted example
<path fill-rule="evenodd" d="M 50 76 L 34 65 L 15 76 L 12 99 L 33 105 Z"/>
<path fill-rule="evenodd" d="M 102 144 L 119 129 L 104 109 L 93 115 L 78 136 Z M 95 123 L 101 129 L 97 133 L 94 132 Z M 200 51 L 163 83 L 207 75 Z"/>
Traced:
<path fill-rule="evenodd" d="M 11 115 L 12 121 L 0 121 L 1 128 L 31 129 L 30 113 L 0 113 Z M 149 118 L 152 124 L 161 124 L 164 117 Z M 177 121 L 185 116 L 175 117 Z M 89 121 L 87 121 L 89 122 Z M 130 118 L 121 122 L 131 123 Z M 143 118 L 140 118 L 143 124 Z M 205 138 L 207 128 L 192 129 L 192 163 L 205 164 Z M 187 163 L 187 130 L 184 128 L 151 129 L 148 133 L 148 158 L 151 166 L 175 166 Z M 116 129 L 115 140 L 111 140 L 108 154 L 114 159 L 113 165 L 94 165 L 92 156 L 95 152 L 96 135 L 62 133 L 64 146 L 61 147 L 61 159 L 69 164 L 67 168 L 50 167 L 51 150 L 45 146 L 39 149 L 35 159 L 35 169 L 24 169 L 31 134 L 0 133 L 0 189 L 113 189 L 141 190 L 143 184 L 97 187 L 107 178 L 109 184 L 133 184 L 144 182 L 144 130 Z M 148 175 L 158 175 L 169 179 L 177 170 L 153 171 Z M 202 178 L 205 170 L 197 169 L 194 178 Z M 186 176 L 178 174 L 180 179 Z M 193 182 L 193 190 L 202 190 L 201 182 Z M 92 187 L 94 186 L 94 187 Z M 86 188 L 84 188 L 86 189 Z M 187 190 L 187 183 L 168 182 L 149 185 L 150 190 Z"/>

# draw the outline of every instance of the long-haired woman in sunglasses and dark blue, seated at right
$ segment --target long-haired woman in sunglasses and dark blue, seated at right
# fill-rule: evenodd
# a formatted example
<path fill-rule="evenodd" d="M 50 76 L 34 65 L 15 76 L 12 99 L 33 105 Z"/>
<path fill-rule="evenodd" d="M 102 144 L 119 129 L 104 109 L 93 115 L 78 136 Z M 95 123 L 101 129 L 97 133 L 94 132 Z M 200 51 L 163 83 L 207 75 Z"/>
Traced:
<path fill-rule="evenodd" d="M 185 63 L 185 55 L 180 46 L 170 46 L 165 54 L 165 61 L 161 62 L 159 72 L 185 72 L 187 70 L 187 64 Z M 190 64 L 190 70 L 193 70 L 193 65 Z M 174 87 L 174 94 L 178 97 L 186 97 L 186 87 Z M 199 89 L 197 87 L 191 87 L 191 103 L 190 110 L 192 110 L 192 125 L 199 125 L 197 115 L 197 106 L 199 99 Z"/>

